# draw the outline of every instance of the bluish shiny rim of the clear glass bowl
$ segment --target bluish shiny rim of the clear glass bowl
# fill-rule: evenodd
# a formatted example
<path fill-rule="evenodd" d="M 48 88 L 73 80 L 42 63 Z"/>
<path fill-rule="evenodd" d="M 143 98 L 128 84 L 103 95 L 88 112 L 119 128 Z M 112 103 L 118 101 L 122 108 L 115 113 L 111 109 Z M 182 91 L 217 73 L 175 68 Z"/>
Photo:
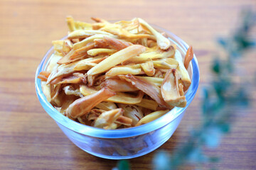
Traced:
<path fill-rule="evenodd" d="M 168 35 L 171 35 L 172 39 L 171 42 L 176 44 L 180 50 L 183 50 L 186 54 L 186 50 L 188 50 L 188 45 L 186 42 L 181 40 L 181 38 L 178 38 L 178 36 L 174 35 L 174 33 L 171 33 L 169 30 L 166 30 L 164 28 L 161 28 L 159 26 L 155 26 L 154 24 L 151 24 L 156 30 L 161 30 L 167 33 Z M 63 38 L 65 39 L 66 36 Z M 174 40 L 175 39 L 175 40 Z M 186 100 L 187 104 L 185 108 L 178 108 L 174 107 L 171 111 L 166 113 L 165 115 L 162 115 L 160 118 L 151 121 L 150 123 L 146 123 L 144 125 L 140 125 L 133 128 L 123 128 L 123 129 L 117 129 L 117 130 L 104 130 L 100 128 L 94 128 L 88 125 L 83 125 L 81 123 L 77 123 L 74 120 L 70 120 L 69 118 L 65 117 L 63 114 L 59 113 L 46 99 L 46 96 L 43 94 L 43 90 L 41 87 L 41 79 L 38 79 L 38 74 L 43 71 L 45 66 L 48 64 L 49 61 L 46 61 L 49 55 L 53 52 L 53 47 L 50 47 L 50 50 L 46 52 L 46 55 L 44 55 L 43 60 L 41 60 L 40 64 L 38 65 L 38 68 L 36 69 L 36 77 L 35 77 L 35 85 L 36 85 L 36 94 L 38 96 L 38 99 L 45 109 L 45 111 L 50 115 L 53 120 L 55 120 L 57 123 L 60 123 L 65 128 L 68 128 L 70 130 L 73 130 L 75 132 L 78 132 L 82 135 L 88 135 L 91 137 L 100 137 L 100 138 L 124 138 L 124 137 L 134 137 L 137 135 L 143 135 L 149 132 L 152 132 L 154 130 L 157 130 L 161 127 L 164 127 L 168 123 L 171 123 L 176 118 L 178 118 L 183 111 L 186 111 L 186 108 L 190 105 L 191 101 L 196 95 L 196 91 L 198 89 L 199 85 L 199 79 L 200 79 L 200 72 L 198 67 L 198 61 L 196 59 L 196 55 L 193 55 L 193 59 L 191 60 L 190 66 L 192 64 L 192 79 L 191 79 L 191 86 L 189 87 L 188 91 L 186 92 Z"/>

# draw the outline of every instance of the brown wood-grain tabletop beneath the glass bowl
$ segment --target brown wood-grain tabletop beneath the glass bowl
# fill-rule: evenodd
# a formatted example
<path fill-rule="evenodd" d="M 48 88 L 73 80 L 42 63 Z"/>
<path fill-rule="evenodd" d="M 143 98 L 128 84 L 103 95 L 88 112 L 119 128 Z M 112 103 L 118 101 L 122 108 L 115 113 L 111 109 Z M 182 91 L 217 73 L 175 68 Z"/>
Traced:
<path fill-rule="evenodd" d="M 201 84 L 173 137 L 160 148 L 171 152 L 179 143 L 186 142 L 188 130 L 200 123 L 201 88 L 210 79 L 210 61 L 218 50 L 215 39 L 228 35 L 238 24 L 240 9 L 248 6 L 255 9 L 256 1 L 1 0 L 0 169 L 112 169 L 117 164 L 73 145 L 36 96 L 36 68 L 51 40 L 66 35 L 65 16 L 72 15 L 81 21 L 90 21 L 91 16 L 106 20 L 141 17 L 193 45 Z M 255 73 L 255 54 L 249 54 L 241 63 L 246 65 L 242 72 L 251 78 Z M 222 158 L 215 164 L 217 169 L 256 169 L 255 106 L 240 112 L 220 147 L 207 152 Z M 155 153 L 130 159 L 132 169 L 150 169 Z"/>

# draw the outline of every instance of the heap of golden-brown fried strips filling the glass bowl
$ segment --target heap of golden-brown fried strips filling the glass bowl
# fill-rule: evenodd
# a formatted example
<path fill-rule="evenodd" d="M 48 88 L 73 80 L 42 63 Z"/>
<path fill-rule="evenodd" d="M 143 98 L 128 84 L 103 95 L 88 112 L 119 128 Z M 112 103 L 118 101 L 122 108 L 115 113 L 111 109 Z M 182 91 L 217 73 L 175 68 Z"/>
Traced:
<path fill-rule="evenodd" d="M 149 123 L 174 107 L 186 107 L 188 64 L 164 33 L 142 18 L 110 23 L 67 17 L 68 37 L 38 75 L 43 94 L 60 113 L 95 128 Z"/>

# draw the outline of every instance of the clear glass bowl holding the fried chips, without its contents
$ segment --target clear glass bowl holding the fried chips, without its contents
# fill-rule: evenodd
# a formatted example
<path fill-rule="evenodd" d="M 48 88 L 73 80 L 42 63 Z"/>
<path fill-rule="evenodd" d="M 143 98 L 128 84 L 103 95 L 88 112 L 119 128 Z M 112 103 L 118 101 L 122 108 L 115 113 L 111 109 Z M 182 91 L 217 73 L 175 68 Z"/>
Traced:
<path fill-rule="evenodd" d="M 159 32 L 164 31 L 169 36 L 171 42 L 176 44 L 181 55 L 183 57 L 186 55 L 186 50 L 188 49 L 186 42 L 168 30 L 164 30 L 158 26 L 153 27 L 159 30 Z M 46 96 L 43 94 L 41 88 L 41 80 L 37 77 L 40 72 L 46 70 L 52 54 L 53 47 L 48 50 L 36 70 L 35 83 L 38 99 L 48 115 L 55 120 L 60 129 L 63 130 L 65 135 L 75 145 L 97 157 L 106 159 L 130 159 L 152 152 L 163 145 L 178 127 L 186 108 L 188 108 L 198 89 L 199 69 L 196 56 L 194 55 L 188 67 L 188 73 L 191 76 L 191 86 L 185 95 L 187 100 L 187 106 L 185 108 L 175 107 L 161 118 L 134 128 L 118 130 L 93 128 L 66 118 L 46 100 Z"/>

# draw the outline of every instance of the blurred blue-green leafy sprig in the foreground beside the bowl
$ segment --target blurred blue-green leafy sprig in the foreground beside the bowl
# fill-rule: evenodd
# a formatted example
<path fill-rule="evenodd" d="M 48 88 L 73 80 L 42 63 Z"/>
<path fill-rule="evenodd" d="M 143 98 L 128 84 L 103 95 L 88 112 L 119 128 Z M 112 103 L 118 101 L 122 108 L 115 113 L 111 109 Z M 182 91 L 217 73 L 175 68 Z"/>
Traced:
<path fill-rule="evenodd" d="M 153 160 L 154 169 L 178 169 L 185 164 L 201 166 L 206 162 L 219 161 L 218 157 L 208 157 L 203 149 L 218 147 L 223 135 L 230 131 L 236 113 L 250 103 L 246 86 L 235 81 L 239 77 L 236 75 L 235 61 L 256 46 L 250 38 L 250 31 L 256 24 L 256 13 L 242 11 L 241 21 L 240 27 L 230 38 L 218 39 L 226 56 L 217 55 L 213 60 L 213 80 L 208 88 L 203 89 L 201 125 L 191 130 L 188 142 L 177 147 L 172 154 L 157 152 Z M 124 160 L 118 162 L 118 169 L 129 169 L 129 163 Z"/>

